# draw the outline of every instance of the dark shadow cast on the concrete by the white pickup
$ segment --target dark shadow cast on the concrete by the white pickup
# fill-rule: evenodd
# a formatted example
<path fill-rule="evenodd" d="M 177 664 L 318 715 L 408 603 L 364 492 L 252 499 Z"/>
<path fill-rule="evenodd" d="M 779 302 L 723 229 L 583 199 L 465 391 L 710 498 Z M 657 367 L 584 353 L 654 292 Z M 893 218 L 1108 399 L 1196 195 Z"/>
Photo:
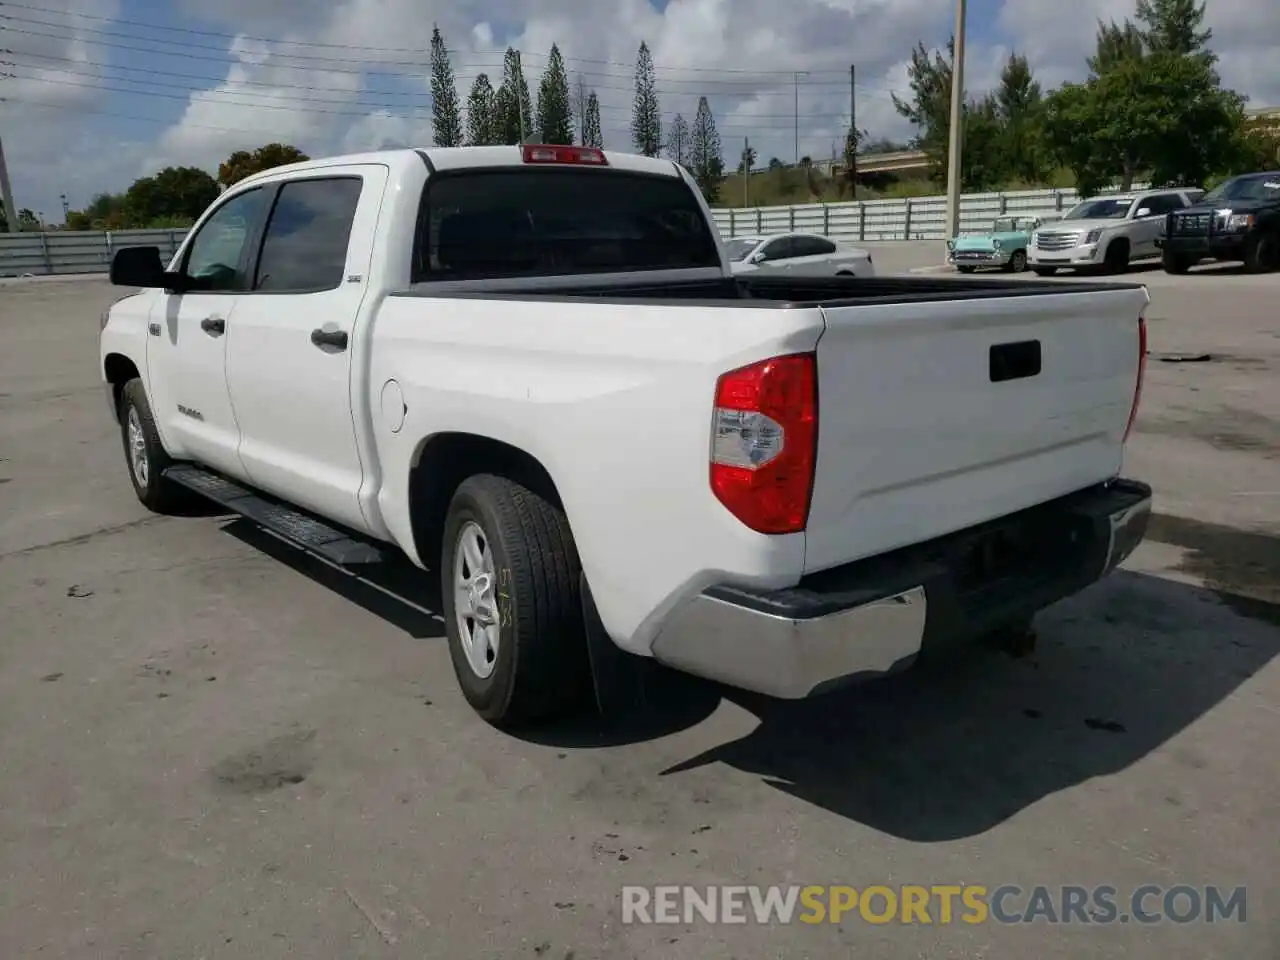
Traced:
<path fill-rule="evenodd" d="M 442 632 L 429 611 L 389 596 L 388 584 L 353 579 L 243 521 L 227 530 L 412 636 Z M 1280 584 L 1280 540 L 1175 518 L 1153 522 L 1151 536 L 1184 547 L 1183 568 L 1208 586 L 1117 572 L 1044 611 L 1027 657 L 972 648 L 792 703 L 657 669 L 646 707 L 622 721 L 582 718 L 524 739 L 561 749 L 644 742 L 700 723 L 727 699 L 758 726 L 660 771 L 662 786 L 650 786 L 671 803 L 692 803 L 681 773 L 722 763 L 892 836 L 983 833 L 1051 794 L 1128 768 L 1280 653 L 1280 598 L 1266 593 Z M 434 603 L 429 577 L 406 576 L 394 585 Z M 1206 767 L 1212 758 L 1178 762 Z M 604 778 L 637 776 L 634 760 L 605 753 L 598 763 Z"/>

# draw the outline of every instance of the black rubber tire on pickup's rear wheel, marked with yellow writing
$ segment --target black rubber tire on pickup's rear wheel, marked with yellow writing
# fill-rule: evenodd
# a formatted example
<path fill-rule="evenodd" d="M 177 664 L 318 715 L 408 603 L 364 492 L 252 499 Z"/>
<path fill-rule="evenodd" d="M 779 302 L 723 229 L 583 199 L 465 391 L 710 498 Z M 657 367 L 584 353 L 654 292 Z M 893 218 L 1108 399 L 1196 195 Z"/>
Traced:
<path fill-rule="evenodd" d="M 488 676 L 471 666 L 457 616 L 454 563 L 471 524 L 497 580 L 490 609 L 498 641 Z M 458 486 L 440 548 L 444 623 L 462 695 L 494 726 L 517 727 L 582 707 L 590 672 L 580 573 L 563 511 L 500 476 L 477 475 Z"/>

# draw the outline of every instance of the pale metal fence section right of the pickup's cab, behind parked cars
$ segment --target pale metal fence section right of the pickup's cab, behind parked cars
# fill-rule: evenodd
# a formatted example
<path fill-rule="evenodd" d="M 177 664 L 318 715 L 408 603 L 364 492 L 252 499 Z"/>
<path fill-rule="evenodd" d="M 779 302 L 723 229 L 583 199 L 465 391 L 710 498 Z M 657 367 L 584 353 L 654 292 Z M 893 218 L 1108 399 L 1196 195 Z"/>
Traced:
<path fill-rule="evenodd" d="M 1074 189 L 966 193 L 960 198 L 960 229 L 983 230 L 997 216 L 1060 216 L 1079 200 Z M 716 227 L 726 239 L 792 232 L 855 242 L 946 239 L 947 198 L 762 206 L 716 210 L 714 214 Z"/>

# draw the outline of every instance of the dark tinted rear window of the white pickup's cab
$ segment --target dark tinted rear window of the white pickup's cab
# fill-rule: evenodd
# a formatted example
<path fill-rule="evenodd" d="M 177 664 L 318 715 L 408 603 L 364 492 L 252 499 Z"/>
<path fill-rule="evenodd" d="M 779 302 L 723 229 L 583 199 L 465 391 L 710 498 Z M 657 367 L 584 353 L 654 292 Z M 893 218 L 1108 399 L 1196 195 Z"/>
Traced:
<path fill-rule="evenodd" d="M 467 170 L 431 178 L 424 202 L 415 282 L 721 266 L 696 195 L 675 177 Z"/>

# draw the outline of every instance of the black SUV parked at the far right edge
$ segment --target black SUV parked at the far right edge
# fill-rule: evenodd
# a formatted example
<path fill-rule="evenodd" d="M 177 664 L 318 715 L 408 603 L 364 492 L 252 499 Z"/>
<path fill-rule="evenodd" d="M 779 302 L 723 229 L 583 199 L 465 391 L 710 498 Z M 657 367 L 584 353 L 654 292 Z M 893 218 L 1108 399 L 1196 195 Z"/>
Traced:
<path fill-rule="evenodd" d="M 1169 274 L 1201 260 L 1243 260 L 1254 274 L 1280 269 L 1280 170 L 1233 177 L 1172 211 L 1157 246 Z"/>

